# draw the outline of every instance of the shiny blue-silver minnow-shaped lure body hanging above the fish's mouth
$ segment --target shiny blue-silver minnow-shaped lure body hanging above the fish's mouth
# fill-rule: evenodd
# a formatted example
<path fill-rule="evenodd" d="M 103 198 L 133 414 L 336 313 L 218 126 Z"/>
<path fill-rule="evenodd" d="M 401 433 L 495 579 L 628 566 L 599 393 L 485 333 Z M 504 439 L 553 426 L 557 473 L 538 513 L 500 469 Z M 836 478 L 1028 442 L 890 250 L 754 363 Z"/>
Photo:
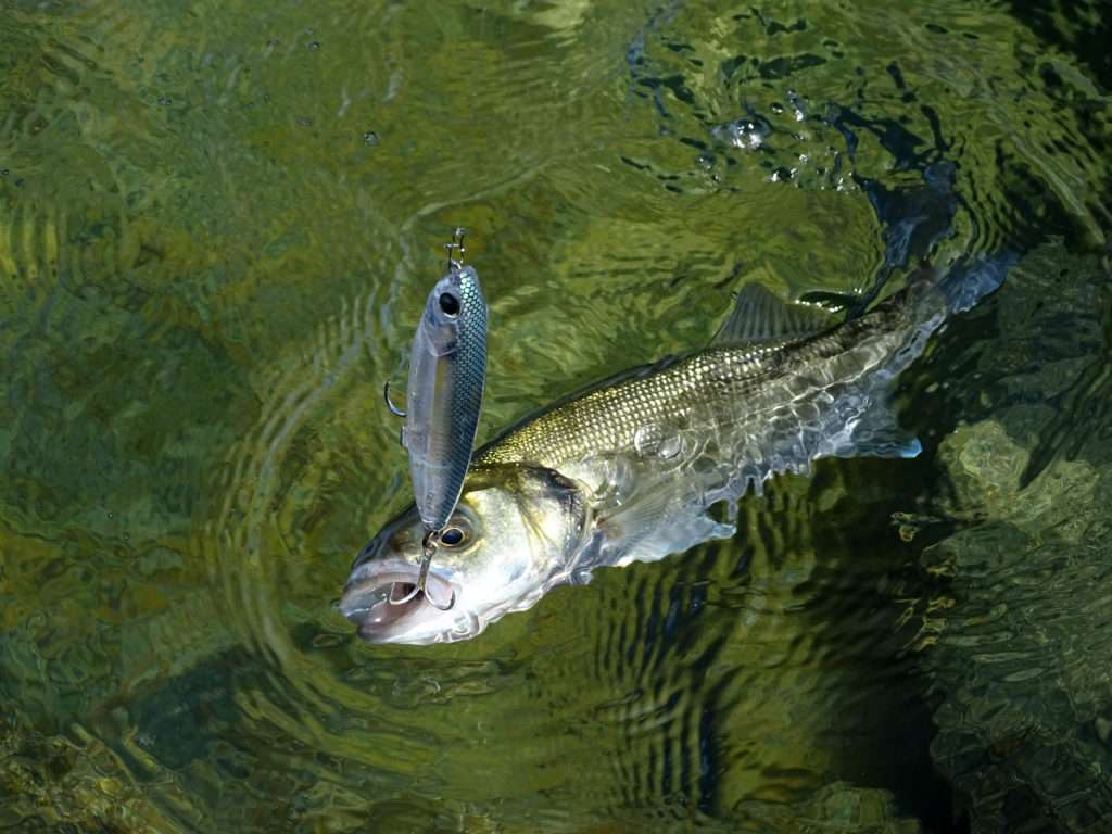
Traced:
<path fill-rule="evenodd" d="M 453 266 L 428 295 L 414 334 L 401 443 L 421 523 L 451 516 L 475 447 L 486 383 L 487 305 L 478 274 Z"/>

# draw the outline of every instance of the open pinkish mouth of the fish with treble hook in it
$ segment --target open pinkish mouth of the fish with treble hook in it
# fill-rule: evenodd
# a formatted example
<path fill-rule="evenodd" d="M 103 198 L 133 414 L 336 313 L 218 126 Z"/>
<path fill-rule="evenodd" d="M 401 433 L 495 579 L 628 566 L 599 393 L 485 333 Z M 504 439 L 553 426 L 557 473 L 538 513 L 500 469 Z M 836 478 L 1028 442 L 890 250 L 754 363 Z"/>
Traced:
<path fill-rule="evenodd" d="M 370 643 L 405 641 L 408 633 L 443 615 L 451 607 L 455 589 L 435 570 L 417 590 L 420 568 L 397 559 L 367 562 L 348 578 L 340 596 L 340 613 Z"/>

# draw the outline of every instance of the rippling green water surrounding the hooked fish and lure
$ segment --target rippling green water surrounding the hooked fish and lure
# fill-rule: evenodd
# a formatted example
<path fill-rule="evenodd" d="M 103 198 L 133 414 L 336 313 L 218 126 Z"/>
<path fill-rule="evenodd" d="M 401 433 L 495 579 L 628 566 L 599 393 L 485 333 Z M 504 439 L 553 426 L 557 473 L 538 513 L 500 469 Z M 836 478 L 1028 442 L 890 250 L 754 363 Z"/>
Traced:
<path fill-rule="evenodd" d="M 0 831 L 1108 831 L 1109 19 L 4 3 Z M 902 378 L 920 458 L 475 641 L 334 609 L 454 226 L 489 437 L 746 281 L 868 286 L 951 163 L 932 257 L 1020 261 Z"/>

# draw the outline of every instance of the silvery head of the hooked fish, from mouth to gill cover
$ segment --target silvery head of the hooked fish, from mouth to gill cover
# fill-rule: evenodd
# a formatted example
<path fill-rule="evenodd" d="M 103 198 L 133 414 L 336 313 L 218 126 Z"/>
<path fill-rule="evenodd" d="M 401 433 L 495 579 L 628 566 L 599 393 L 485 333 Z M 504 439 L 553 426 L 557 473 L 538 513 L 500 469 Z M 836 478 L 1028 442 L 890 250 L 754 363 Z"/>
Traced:
<path fill-rule="evenodd" d="M 589 537 L 583 485 L 519 464 L 473 467 L 416 589 L 426 528 L 410 506 L 351 567 L 340 612 L 370 643 L 474 637 L 566 578 Z"/>

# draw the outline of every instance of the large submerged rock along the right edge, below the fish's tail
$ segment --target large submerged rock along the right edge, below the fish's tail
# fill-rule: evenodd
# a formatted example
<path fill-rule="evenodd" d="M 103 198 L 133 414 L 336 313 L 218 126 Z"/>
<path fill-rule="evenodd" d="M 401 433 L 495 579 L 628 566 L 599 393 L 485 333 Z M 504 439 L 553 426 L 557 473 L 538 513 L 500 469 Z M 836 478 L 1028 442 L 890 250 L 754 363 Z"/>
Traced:
<path fill-rule="evenodd" d="M 974 834 L 1112 826 L 1105 282 L 1060 246 L 1029 257 L 975 359 L 990 418 L 939 449 L 957 529 L 923 553 L 946 582 L 923 656 L 932 756 Z"/>

